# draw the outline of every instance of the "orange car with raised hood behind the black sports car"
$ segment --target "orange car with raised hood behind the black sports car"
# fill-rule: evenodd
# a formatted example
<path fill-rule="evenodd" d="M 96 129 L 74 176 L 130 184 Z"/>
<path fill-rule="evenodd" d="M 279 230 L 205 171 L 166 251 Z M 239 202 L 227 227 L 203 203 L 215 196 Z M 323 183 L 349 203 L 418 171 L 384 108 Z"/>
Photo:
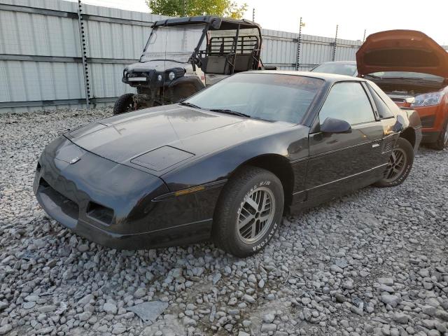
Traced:
<path fill-rule="evenodd" d="M 421 31 L 380 31 L 356 52 L 360 77 L 376 83 L 400 107 L 415 109 L 422 143 L 448 146 L 448 52 Z"/>

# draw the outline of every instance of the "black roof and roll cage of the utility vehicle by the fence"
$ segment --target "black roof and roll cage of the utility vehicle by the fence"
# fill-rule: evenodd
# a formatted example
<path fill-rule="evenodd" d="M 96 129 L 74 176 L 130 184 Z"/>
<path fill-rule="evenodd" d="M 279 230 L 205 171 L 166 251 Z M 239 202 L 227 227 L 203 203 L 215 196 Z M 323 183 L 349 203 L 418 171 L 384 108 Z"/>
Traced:
<path fill-rule="evenodd" d="M 188 18 L 172 18 L 156 21 L 153 28 L 205 24 L 189 62 L 196 70 L 200 67 L 204 73 L 231 75 L 235 72 L 258 69 L 261 52 L 261 28 L 255 22 L 220 18 L 214 15 L 201 15 Z M 240 34 L 243 29 L 255 29 L 257 34 Z M 231 36 L 209 36 L 209 31 L 236 31 Z M 204 38 L 206 48 L 201 50 Z"/>

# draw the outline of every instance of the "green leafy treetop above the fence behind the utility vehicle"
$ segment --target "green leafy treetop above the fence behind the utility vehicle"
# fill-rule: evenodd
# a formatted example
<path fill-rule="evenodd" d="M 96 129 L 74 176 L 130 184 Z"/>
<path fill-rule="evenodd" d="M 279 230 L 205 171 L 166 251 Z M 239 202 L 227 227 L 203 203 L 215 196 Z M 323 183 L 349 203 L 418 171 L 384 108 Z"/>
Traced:
<path fill-rule="evenodd" d="M 239 5 L 231 0 L 146 0 L 146 3 L 151 13 L 168 16 L 217 15 L 241 19 L 247 10 L 247 3 Z"/>

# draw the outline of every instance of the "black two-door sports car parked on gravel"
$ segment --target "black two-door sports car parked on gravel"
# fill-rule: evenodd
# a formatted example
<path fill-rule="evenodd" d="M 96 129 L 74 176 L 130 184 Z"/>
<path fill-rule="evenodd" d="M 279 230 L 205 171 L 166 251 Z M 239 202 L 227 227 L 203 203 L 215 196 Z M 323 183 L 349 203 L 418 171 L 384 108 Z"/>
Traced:
<path fill-rule="evenodd" d="M 368 80 L 237 73 L 180 104 L 55 139 L 38 161 L 34 192 L 52 218 L 98 244 L 212 238 L 245 256 L 268 243 L 283 214 L 402 183 L 420 140 L 416 112 Z"/>

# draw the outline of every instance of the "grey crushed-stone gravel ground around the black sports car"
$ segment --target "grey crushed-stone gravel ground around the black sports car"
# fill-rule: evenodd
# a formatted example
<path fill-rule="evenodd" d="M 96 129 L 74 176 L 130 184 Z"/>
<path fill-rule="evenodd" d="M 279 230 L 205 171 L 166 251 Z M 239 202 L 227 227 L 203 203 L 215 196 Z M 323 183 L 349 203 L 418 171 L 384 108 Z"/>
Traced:
<path fill-rule="evenodd" d="M 251 258 L 116 251 L 45 216 L 31 189 L 45 144 L 110 115 L 0 116 L 0 335 L 448 335 L 448 151 L 421 148 L 398 188 L 287 218 Z"/>

